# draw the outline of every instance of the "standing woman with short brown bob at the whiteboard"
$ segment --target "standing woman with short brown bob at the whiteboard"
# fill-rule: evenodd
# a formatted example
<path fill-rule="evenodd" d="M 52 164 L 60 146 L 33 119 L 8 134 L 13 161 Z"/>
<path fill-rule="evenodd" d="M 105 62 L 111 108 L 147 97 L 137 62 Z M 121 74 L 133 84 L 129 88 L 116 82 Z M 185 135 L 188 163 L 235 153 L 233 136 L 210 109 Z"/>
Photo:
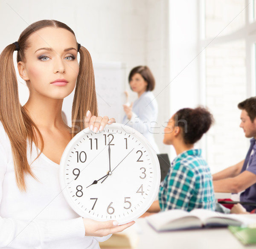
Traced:
<path fill-rule="evenodd" d="M 157 101 L 151 92 L 155 86 L 154 76 L 147 66 L 138 66 L 131 70 L 128 81 L 138 98 L 130 106 L 123 105 L 126 115 L 122 123 L 143 134 L 154 151 L 159 153 L 153 133 L 158 114 Z"/>

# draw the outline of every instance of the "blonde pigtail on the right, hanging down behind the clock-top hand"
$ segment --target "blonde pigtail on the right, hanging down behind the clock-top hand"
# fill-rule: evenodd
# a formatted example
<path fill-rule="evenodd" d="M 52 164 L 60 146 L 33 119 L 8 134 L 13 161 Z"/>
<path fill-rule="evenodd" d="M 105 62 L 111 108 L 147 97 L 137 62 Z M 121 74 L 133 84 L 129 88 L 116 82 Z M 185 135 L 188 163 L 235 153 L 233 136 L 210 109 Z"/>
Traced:
<path fill-rule="evenodd" d="M 98 115 L 93 63 L 88 50 L 81 46 L 79 49 L 79 74 L 72 106 L 72 135 L 84 129 L 84 117 L 87 110 L 92 115 Z"/>

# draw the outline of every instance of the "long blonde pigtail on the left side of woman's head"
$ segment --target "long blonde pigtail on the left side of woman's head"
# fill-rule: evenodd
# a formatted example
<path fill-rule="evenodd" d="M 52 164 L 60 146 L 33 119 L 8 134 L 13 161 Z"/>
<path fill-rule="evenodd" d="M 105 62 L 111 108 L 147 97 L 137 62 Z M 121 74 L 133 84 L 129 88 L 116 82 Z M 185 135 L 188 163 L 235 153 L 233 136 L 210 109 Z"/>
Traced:
<path fill-rule="evenodd" d="M 0 54 L 0 121 L 11 142 L 17 185 L 24 191 L 26 190 L 25 174 L 34 176 L 26 159 L 27 130 L 13 64 L 15 48 L 15 44 L 11 44 Z"/>

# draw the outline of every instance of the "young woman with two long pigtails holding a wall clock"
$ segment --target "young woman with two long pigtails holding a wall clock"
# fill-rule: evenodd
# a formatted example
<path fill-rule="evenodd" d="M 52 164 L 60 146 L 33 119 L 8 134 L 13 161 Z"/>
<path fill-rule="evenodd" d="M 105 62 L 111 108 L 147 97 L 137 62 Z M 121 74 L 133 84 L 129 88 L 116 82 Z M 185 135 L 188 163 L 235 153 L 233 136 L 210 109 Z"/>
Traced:
<path fill-rule="evenodd" d="M 18 97 L 15 50 L 18 72 L 29 88 L 24 106 Z M 74 88 L 70 128 L 61 107 Z M 70 139 L 84 127 L 97 132 L 114 122 L 97 116 L 90 54 L 67 25 L 32 23 L 3 50 L 0 121 L 0 248 L 98 249 L 98 241 L 134 223 L 118 226 L 113 220 L 78 217 L 61 193 L 59 162 Z"/>

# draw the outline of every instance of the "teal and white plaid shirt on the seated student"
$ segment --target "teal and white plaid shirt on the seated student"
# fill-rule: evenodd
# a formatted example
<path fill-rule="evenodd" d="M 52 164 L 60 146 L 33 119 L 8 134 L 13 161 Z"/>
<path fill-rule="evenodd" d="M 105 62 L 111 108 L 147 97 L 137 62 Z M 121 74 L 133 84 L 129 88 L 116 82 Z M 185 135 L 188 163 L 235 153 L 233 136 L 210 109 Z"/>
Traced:
<path fill-rule="evenodd" d="M 194 208 L 215 210 L 212 175 L 201 149 L 179 154 L 161 183 L 159 204 L 162 211 Z"/>

